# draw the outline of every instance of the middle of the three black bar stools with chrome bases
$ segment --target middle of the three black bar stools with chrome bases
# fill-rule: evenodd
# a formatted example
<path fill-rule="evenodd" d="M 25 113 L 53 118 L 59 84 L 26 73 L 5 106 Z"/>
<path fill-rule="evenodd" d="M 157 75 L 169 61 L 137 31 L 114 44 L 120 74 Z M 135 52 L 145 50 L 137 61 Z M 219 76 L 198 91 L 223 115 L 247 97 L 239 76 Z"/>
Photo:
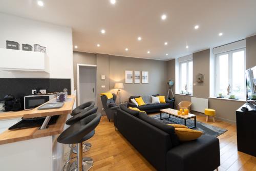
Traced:
<path fill-rule="evenodd" d="M 66 124 L 67 125 L 73 125 L 74 123 L 80 121 L 81 119 L 86 118 L 89 115 L 95 114 L 97 112 L 97 110 L 98 110 L 97 106 L 92 106 L 90 109 L 84 110 L 84 111 L 80 112 L 79 114 L 73 116 L 72 118 L 68 119 L 66 121 Z M 84 142 L 82 144 L 82 151 L 83 152 L 88 151 L 91 148 L 91 146 L 92 146 L 91 143 Z M 70 147 L 72 148 L 72 152 L 77 154 L 77 146 L 72 146 L 71 145 Z"/>

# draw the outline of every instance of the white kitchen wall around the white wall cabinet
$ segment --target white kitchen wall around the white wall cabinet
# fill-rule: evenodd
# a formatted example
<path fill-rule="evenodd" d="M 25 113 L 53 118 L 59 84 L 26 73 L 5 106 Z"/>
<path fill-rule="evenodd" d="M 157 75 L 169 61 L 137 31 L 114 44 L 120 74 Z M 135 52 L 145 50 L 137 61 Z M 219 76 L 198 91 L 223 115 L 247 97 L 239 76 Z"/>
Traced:
<path fill-rule="evenodd" d="M 0 48 L 6 48 L 6 40 L 22 44 L 39 44 L 46 47 L 50 60 L 50 73 L 1 71 L 2 78 L 71 78 L 73 83 L 72 29 L 36 20 L 0 13 Z M 4 60 L 0 56 L 0 61 Z"/>

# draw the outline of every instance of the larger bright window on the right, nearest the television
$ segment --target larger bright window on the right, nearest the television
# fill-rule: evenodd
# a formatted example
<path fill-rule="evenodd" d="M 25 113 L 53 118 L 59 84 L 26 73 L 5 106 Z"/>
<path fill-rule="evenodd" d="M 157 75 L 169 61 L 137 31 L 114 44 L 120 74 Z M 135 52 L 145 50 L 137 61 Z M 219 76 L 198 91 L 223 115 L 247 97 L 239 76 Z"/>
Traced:
<path fill-rule="evenodd" d="M 245 99 L 245 49 L 216 55 L 215 95 Z M 230 93 L 228 93 L 228 90 Z M 228 95 L 229 94 L 229 95 Z"/>

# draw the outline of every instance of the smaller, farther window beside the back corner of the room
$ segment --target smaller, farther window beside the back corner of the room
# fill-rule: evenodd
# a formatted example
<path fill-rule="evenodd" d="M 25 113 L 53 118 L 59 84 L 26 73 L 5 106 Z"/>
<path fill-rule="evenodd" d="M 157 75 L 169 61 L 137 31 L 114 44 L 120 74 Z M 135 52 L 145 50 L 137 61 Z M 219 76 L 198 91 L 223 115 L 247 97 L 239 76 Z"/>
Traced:
<path fill-rule="evenodd" d="M 193 93 L 193 61 L 180 62 L 179 90 L 181 94 Z"/>

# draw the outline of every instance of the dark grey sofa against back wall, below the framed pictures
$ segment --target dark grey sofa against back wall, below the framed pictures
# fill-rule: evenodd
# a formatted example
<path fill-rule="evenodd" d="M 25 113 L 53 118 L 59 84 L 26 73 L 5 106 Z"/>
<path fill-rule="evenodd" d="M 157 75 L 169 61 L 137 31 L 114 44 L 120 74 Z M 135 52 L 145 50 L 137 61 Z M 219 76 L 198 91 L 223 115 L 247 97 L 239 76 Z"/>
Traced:
<path fill-rule="evenodd" d="M 138 108 L 141 111 L 145 111 L 146 113 L 154 113 L 154 112 L 159 112 L 161 109 L 166 109 L 166 108 L 172 108 L 173 109 L 173 100 L 170 99 L 165 99 L 166 103 L 154 103 L 152 104 L 152 99 L 151 96 L 159 96 L 159 94 L 155 95 L 146 95 L 146 96 L 131 96 L 129 98 L 128 107 L 133 107 L 133 108 Z M 134 104 L 131 99 L 142 97 L 143 101 L 146 103 L 145 105 L 137 106 Z"/>

